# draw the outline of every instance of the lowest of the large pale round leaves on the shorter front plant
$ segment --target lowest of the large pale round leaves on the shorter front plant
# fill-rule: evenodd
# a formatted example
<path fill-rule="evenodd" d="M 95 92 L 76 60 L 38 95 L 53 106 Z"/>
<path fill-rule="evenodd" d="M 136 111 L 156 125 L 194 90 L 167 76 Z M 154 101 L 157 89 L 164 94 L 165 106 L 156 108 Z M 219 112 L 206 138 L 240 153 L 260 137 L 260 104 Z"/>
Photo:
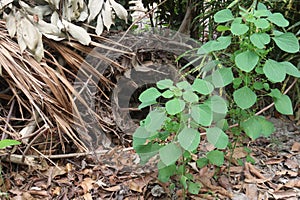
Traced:
<path fill-rule="evenodd" d="M 181 148 L 174 143 L 169 143 L 166 146 L 159 149 L 160 160 L 166 166 L 174 164 L 181 155 Z"/>

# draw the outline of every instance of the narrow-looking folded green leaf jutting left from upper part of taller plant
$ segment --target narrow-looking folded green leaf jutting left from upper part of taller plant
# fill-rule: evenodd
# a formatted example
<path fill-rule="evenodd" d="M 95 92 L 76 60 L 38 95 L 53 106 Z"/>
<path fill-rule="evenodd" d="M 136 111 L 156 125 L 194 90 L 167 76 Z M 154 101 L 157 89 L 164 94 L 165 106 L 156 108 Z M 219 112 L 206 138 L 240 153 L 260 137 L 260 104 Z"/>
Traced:
<path fill-rule="evenodd" d="M 231 44 L 230 36 L 221 36 L 217 40 L 211 40 L 202 45 L 198 49 L 198 54 L 206 54 L 212 51 L 220 51 L 226 49 Z"/>

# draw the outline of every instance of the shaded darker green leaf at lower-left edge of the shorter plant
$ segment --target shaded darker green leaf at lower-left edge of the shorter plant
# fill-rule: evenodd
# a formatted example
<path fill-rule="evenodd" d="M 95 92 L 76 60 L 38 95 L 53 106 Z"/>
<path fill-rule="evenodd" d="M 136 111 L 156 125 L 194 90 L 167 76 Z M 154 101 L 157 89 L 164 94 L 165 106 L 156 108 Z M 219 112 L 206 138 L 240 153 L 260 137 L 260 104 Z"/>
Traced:
<path fill-rule="evenodd" d="M 157 143 L 148 143 L 146 145 L 138 145 L 134 147 L 135 152 L 140 156 L 140 164 L 146 164 L 150 158 L 158 154 L 162 146 Z"/>

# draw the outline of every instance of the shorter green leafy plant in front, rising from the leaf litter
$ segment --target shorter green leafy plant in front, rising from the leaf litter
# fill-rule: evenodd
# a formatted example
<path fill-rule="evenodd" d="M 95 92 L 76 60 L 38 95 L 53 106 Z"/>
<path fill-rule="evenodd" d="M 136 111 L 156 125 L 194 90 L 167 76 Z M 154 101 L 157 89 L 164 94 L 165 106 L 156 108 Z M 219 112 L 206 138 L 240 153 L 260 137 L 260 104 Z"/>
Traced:
<path fill-rule="evenodd" d="M 186 164 L 191 161 L 193 152 L 197 152 L 200 143 L 199 128 L 205 129 L 207 140 L 218 149 L 225 149 L 228 136 L 214 122 L 224 119 L 227 114 L 227 102 L 211 95 L 214 86 L 202 79 L 193 84 L 182 81 L 174 84 L 166 79 L 157 82 L 156 87 L 145 90 L 139 97 L 139 108 L 153 106 L 141 126 L 133 135 L 133 147 L 140 155 L 142 163 L 158 154 L 159 179 L 169 181 L 172 175 L 180 175 L 183 188 L 191 193 L 200 189 L 192 176 L 185 173 Z M 159 105 L 159 97 L 167 99 Z M 218 166 L 223 164 L 224 154 L 216 150 L 209 152 L 207 161 Z"/>

